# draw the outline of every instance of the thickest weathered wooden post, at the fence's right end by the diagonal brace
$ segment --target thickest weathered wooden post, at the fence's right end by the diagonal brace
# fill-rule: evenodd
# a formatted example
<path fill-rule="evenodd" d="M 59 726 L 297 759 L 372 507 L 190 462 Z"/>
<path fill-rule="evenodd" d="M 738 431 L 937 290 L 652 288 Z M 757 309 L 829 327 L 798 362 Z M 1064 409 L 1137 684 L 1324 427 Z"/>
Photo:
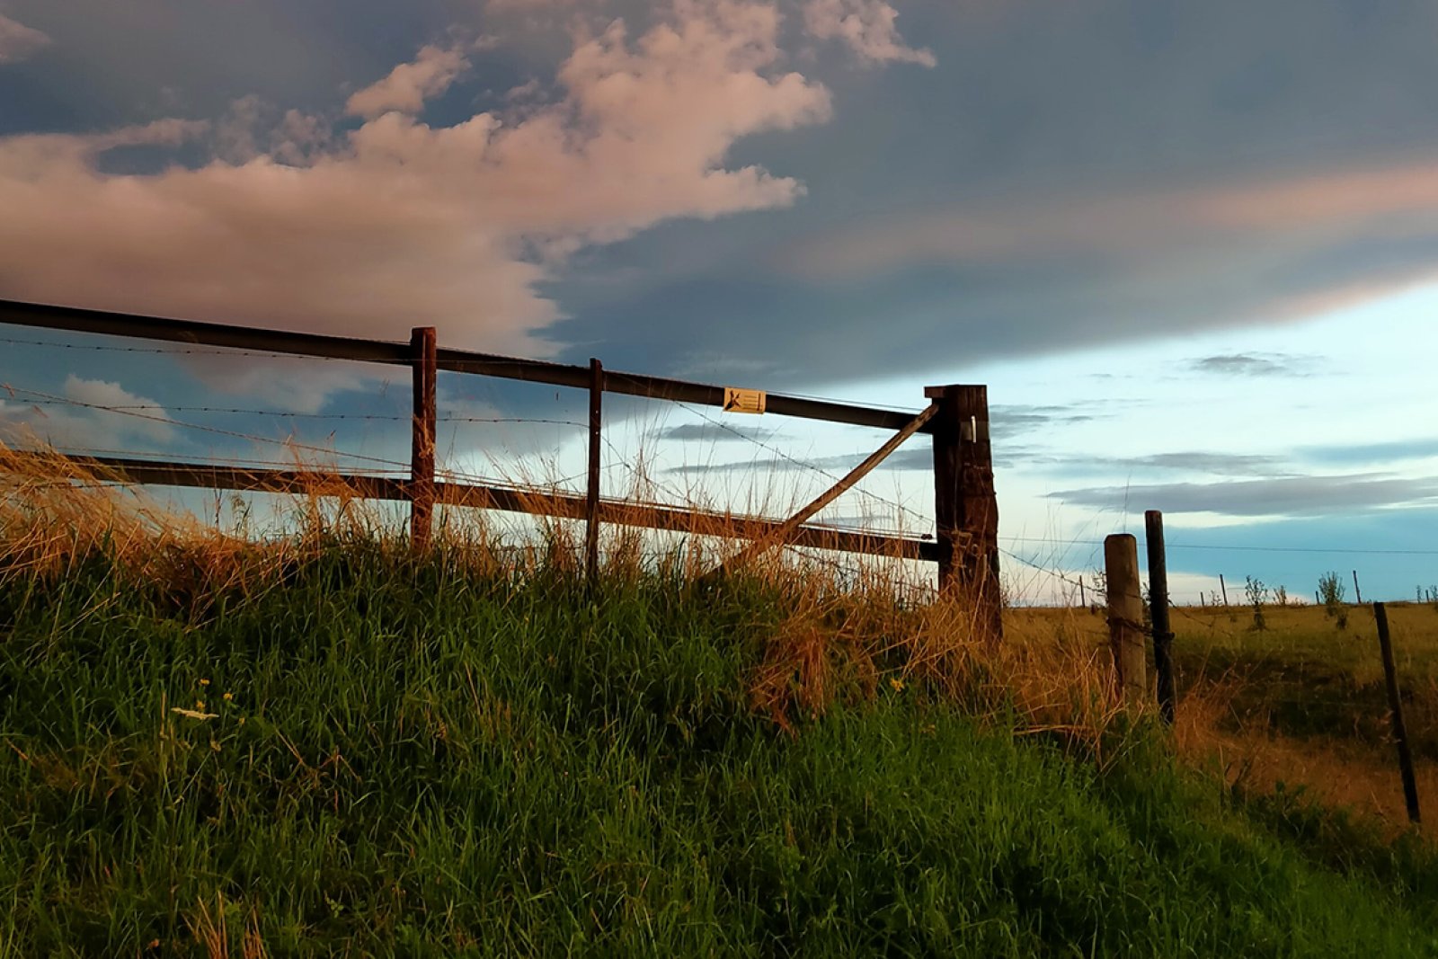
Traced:
<path fill-rule="evenodd" d="M 998 499 L 989 443 L 988 387 L 925 387 L 939 407 L 933 420 L 933 512 L 938 520 L 939 591 L 959 589 L 975 621 L 1004 637 L 998 581 Z"/>

